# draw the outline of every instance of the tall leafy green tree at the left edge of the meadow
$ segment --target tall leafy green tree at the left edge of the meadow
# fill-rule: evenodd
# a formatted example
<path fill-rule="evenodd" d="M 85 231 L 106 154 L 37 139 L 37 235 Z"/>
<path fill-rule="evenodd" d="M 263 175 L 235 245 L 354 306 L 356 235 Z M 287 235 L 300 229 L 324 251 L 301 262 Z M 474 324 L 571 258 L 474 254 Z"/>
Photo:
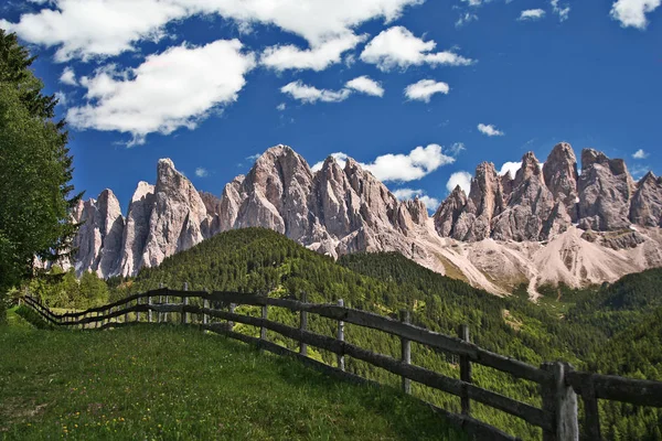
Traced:
<path fill-rule="evenodd" d="M 65 255 L 76 227 L 65 123 L 53 121 L 57 100 L 42 95 L 33 61 L 0 30 L 0 292 L 31 275 L 34 256 Z"/>

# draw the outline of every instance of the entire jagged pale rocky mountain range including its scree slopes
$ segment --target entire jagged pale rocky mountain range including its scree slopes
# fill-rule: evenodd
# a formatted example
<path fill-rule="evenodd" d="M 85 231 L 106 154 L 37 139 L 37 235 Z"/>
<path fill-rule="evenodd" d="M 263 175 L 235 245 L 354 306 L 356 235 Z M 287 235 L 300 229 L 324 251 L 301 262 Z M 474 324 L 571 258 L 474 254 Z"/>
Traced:
<path fill-rule="evenodd" d="M 621 159 L 592 149 L 581 168 L 568 143 L 541 164 L 528 152 L 514 176 L 494 164 L 476 169 L 434 216 L 419 200 L 398 201 L 348 159 L 329 157 L 313 172 L 286 146 L 268 149 L 218 197 L 199 192 L 169 159 L 156 184 L 139 182 L 126 217 L 113 191 L 82 201 L 71 262 L 77 273 L 135 276 L 221 232 L 259 226 L 338 258 L 398 251 L 437 272 L 495 294 L 525 283 L 573 288 L 611 282 L 662 266 L 662 179 L 634 182 Z"/>

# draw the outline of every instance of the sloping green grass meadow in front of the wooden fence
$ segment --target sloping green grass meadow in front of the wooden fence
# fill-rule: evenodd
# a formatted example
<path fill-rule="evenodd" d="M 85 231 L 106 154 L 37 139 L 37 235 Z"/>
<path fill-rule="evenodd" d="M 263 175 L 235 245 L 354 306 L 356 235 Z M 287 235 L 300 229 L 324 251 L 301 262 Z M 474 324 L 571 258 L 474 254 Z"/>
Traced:
<path fill-rule="evenodd" d="M 462 440 L 419 401 L 193 329 L 0 327 L 0 439 Z"/>

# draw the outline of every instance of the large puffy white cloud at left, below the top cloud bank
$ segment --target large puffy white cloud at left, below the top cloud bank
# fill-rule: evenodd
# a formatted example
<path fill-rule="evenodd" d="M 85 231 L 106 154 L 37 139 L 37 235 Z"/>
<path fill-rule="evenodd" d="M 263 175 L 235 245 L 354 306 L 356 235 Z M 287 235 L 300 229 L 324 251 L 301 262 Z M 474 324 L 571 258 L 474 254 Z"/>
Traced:
<path fill-rule="evenodd" d="M 213 110 L 237 99 L 246 73 L 255 66 L 253 54 L 241 50 L 238 40 L 199 47 L 184 43 L 148 56 L 135 69 L 105 66 L 92 78 L 81 78 L 88 103 L 71 108 L 66 119 L 78 129 L 129 132 L 134 136 L 129 144 L 143 143 L 152 132 L 193 129 Z"/>

